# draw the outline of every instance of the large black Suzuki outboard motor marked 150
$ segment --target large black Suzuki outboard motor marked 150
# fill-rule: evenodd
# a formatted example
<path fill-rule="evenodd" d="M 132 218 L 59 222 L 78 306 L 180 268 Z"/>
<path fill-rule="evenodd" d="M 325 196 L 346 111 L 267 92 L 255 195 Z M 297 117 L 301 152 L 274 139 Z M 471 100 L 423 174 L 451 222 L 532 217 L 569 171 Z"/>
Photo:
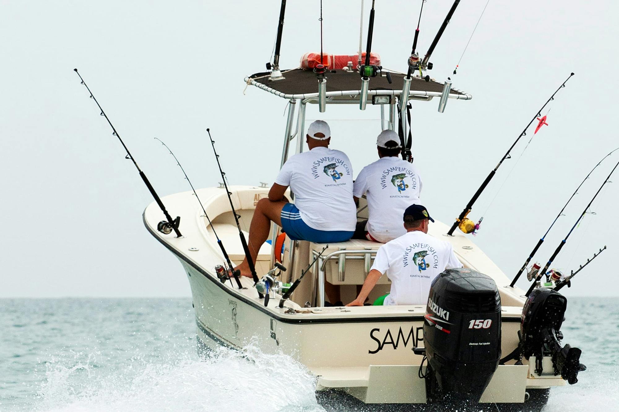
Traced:
<path fill-rule="evenodd" d="M 477 403 L 501 358 L 501 298 L 495 281 L 467 268 L 432 282 L 425 322 L 428 401 Z"/>

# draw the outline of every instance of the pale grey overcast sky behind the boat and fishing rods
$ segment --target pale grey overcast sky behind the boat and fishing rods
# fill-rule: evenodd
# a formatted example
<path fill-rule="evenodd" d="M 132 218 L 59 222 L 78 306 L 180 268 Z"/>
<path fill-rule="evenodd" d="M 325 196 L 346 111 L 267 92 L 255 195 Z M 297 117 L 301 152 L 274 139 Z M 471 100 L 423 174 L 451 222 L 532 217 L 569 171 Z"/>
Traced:
<path fill-rule="evenodd" d="M 279 1 L 0 4 L 0 296 L 190 296 L 178 260 L 142 224 L 149 192 L 73 69 L 80 69 L 160 195 L 189 187 L 154 137 L 175 152 L 194 186 L 220 181 L 207 127 L 232 184 L 272 182 L 286 101 L 254 87 L 244 94 L 243 77 L 264 71 Z M 436 111 L 437 99 L 413 103 L 413 153 L 424 204 L 449 224 L 530 118 L 576 72 L 548 106 L 550 126 L 509 174 L 530 129 L 470 214 L 475 221 L 485 217 L 474 241 L 513 277 L 579 182 L 619 147 L 613 103 L 619 6 L 491 0 L 453 76 L 484 5 L 460 3 L 431 59 L 432 77 L 451 76 L 473 100 L 450 100 L 445 113 Z M 405 71 L 419 6 L 420 0 L 376 1 L 373 51 L 385 67 Z M 426 3 L 423 53 L 450 6 Z M 360 1 L 324 0 L 323 8 L 325 51 L 355 53 Z M 319 50 L 318 17 L 318 0 L 288 1 L 283 68 Z M 312 105 L 307 118 L 364 119 L 332 121 L 332 145 L 348 153 L 355 176 L 374 160 L 378 108 L 327 106 L 319 116 Z M 619 151 L 595 171 L 548 235 L 539 261 L 552 254 L 617 161 Z M 598 286 L 616 277 L 618 203 L 619 187 L 608 184 L 592 207 L 597 214 L 584 217 L 556 259 L 569 272 L 608 246 L 563 290 L 567 296 L 619 294 Z"/>

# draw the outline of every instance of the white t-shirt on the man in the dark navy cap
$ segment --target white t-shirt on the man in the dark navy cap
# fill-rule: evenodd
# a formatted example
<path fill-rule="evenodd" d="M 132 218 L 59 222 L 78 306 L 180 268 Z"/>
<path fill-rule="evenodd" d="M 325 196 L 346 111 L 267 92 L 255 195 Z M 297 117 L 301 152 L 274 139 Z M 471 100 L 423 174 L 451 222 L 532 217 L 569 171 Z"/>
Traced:
<path fill-rule="evenodd" d="M 381 246 L 372 265 L 391 280 L 385 305 L 425 304 L 434 278 L 446 268 L 456 267 L 462 264 L 451 243 L 418 230 Z"/>

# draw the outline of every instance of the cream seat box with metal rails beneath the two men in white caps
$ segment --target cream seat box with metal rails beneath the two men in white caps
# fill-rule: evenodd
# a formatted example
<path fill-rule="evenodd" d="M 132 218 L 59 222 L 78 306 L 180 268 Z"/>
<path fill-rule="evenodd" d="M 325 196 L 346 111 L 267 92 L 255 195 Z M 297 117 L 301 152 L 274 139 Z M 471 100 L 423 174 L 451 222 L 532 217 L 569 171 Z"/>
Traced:
<path fill-rule="evenodd" d="M 311 262 L 314 259 L 314 253 L 319 253 L 322 250 L 322 247 L 327 246 L 324 243 L 314 243 L 311 242 L 309 244 L 310 250 L 312 251 L 309 254 L 309 261 Z M 373 264 L 374 257 L 376 256 L 376 251 L 378 251 L 379 247 L 383 246 L 382 243 L 372 242 L 365 239 L 350 239 L 345 242 L 331 242 L 329 243 L 329 247 L 322 253 L 322 256 L 326 256 L 335 251 L 372 251 L 370 257 L 370 264 Z M 357 257 L 357 259 L 346 259 L 344 262 L 344 279 L 339 276 L 338 265 L 339 259 L 337 255 L 330 259 L 324 267 L 325 278 L 332 285 L 363 285 L 365 281 L 366 272 L 365 272 L 365 261 L 363 259 L 364 253 L 347 253 L 345 256 L 347 258 Z M 317 262 L 318 264 L 318 262 Z M 383 275 L 378 280 L 378 284 L 388 284 L 391 283 L 389 279 Z"/>

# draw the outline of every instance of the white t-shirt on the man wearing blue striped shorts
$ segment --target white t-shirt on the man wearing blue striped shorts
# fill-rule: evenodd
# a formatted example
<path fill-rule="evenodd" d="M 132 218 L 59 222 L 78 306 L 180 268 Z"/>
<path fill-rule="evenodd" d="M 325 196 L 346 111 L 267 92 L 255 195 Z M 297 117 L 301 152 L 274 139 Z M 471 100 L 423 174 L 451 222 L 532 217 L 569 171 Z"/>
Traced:
<path fill-rule="evenodd" d="M 284 163 L 275 183 L 290 186 L 301 219 L 310 228 L 354 231 L 357 208 L 352 199 L 352 165 L 344 152 L 314 147 Z"/>

